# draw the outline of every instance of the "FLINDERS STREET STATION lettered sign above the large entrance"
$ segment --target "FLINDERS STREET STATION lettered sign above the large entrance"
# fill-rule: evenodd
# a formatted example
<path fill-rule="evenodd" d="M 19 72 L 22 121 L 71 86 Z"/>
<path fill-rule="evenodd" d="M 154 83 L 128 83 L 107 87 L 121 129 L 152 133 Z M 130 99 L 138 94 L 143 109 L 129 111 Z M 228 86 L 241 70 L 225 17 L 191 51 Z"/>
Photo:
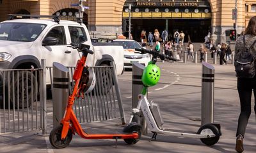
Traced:
<path fill-rule="evenodd" d="M 137 6 L 198 6 L 197 2 L 137 2 Z"/>

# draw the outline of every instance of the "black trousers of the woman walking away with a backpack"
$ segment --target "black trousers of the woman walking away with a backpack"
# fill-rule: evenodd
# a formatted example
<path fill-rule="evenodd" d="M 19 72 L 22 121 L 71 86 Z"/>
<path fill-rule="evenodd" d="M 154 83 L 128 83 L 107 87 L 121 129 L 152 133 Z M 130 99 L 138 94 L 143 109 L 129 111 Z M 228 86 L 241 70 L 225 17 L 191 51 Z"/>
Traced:
<path fill-rule="evenodd" d="M 241 113 L 238 119 L 237 135 L 244 136 L 248 119 L 251 115 L 251 99 L 252 91 L 254 99 L 256 100 L 256 77 L 254 78 L 237 78 L 237 90 L 240 99 Z M 254 101 L 254 112 L 256 113 L 256 106 Z"/>

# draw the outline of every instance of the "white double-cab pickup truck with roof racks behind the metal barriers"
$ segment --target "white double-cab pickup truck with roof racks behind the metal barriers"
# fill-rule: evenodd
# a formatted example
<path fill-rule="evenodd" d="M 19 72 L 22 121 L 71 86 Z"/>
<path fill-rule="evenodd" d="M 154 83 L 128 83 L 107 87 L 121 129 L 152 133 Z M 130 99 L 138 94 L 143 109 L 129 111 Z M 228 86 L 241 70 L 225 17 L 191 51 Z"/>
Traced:
<path fill-rule="evenodd" d="M 79 53 L 67 47 L 70 43 L 90 45 L 94 54 L 88 55 L 88 66 L 116 64 L 116 74 L 124 70 L 122 46 L 108 43 L 92 45 L 84 24 L 68 20 L 24 18 L 0 23 L 0 69 L 41 68 L 41 59 L 46 66 L 60 62 L 65 66 L 76 66 Z M 0 94 L 3 93 L 3 78 L 0 73 Z M 30 75 L 29 75 L 30 76 Z M 21 76 L 20 76 L 21 77 Z M 46 78 L 50 84 L 49 75 Z M 1 103 L 1 101 L 0 101 Z"/>

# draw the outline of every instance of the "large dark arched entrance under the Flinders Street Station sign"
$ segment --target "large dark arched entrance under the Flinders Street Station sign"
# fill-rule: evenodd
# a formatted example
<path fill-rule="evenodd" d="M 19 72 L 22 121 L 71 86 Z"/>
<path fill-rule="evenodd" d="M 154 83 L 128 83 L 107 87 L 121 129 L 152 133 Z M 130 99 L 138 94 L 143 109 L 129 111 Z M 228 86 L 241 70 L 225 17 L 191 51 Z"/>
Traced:
<path fill-rule="evenodd" d="M 123 8 L 124 34 L 128 33 L 129 4 L 131 4 L 132 36 L 140 41 L 140 33 L 144 29 L 154 33 L 164 29 L 173 36 L 174 31 L 183 31 L 193 42 L 204 42 L 204 37 L 211 31 L 211 6 L 209 1 L 125 1 Z"/>

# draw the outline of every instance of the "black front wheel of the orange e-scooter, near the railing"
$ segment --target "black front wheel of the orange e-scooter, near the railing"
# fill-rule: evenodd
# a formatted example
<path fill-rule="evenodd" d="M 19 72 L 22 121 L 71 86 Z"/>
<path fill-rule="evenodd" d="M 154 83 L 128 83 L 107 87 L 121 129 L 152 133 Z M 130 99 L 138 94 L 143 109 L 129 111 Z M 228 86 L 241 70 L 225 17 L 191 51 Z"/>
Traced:
<path fill-rule="evenodd" d="M 72 140 L 72 131 L 69 129 L 68 134 L 64 140 L 61 140 L 61 132 L 62 132 L 63 126 L 57 126 L 56 128 L 52 129 L 49 139 L 51 142 L 51 145 L 56 149 L 62 149 L 69 145 L 69 143 Z"/>

